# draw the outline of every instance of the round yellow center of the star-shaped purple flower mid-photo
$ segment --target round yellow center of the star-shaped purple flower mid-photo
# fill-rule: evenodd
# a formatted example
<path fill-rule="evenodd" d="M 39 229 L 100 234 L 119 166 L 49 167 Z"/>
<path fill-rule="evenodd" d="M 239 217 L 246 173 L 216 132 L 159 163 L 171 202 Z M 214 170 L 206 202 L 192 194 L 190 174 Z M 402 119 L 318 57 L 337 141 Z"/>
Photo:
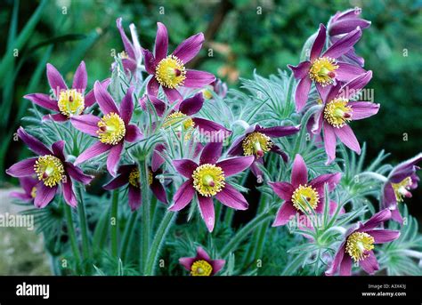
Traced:
<path fill-rule="evenodd" d="M 215 165 L 199 165 L 192 178 L 193 187 L 205 197 L 215 196 L 225 186 L 223 169 Z"/>

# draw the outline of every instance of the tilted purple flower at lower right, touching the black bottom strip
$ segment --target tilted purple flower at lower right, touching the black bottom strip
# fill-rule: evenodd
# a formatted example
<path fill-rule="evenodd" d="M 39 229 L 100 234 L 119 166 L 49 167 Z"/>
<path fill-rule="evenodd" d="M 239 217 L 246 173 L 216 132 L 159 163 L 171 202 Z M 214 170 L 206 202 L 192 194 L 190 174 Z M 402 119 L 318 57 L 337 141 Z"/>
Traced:
<path fill-rule="evenodd" d="M 374 245 L 389 243 L 400 237 L 400 231 L 377 229 L 384 221 L 391 219 L 388 209 L 374 214 L 365 223 L 358 222 L 345 233 L 345 241 L 340 245 L 327 276 L 333 276 L 339 271 L 340 276 L 352 274 L 352 264 L 359 263 L 361 269 L 370 275 L 379 269 L 377 258 L 373 252 Z"/>

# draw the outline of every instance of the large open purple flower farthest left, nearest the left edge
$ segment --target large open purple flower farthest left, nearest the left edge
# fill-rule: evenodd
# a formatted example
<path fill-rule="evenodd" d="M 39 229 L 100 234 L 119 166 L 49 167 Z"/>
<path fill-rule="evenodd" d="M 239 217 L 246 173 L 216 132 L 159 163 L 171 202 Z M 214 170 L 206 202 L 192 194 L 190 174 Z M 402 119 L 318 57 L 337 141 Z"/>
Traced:
<path fill-rule="evenodd" d="M 61 184 L 64 200 L 70 206 L 77 205 L 77 198 L 72 188 L 72 179 L 83 184 L 93 180 L 93 176 L 85 175 L 80 168 L 66 161 L 64 156 L 64 140 L 59 140 L 47 148 L 40 140 L 29 135 L 20 127 L 18 136 L 28 148 L 39 157 L 31 157 L 12 165 L 6 173 L 12 177 L 32 177 L 37 175 L 34 205 L 38 208 L 48 205 Z M 32 189 L 31 189 L 32 193 Z"/>

